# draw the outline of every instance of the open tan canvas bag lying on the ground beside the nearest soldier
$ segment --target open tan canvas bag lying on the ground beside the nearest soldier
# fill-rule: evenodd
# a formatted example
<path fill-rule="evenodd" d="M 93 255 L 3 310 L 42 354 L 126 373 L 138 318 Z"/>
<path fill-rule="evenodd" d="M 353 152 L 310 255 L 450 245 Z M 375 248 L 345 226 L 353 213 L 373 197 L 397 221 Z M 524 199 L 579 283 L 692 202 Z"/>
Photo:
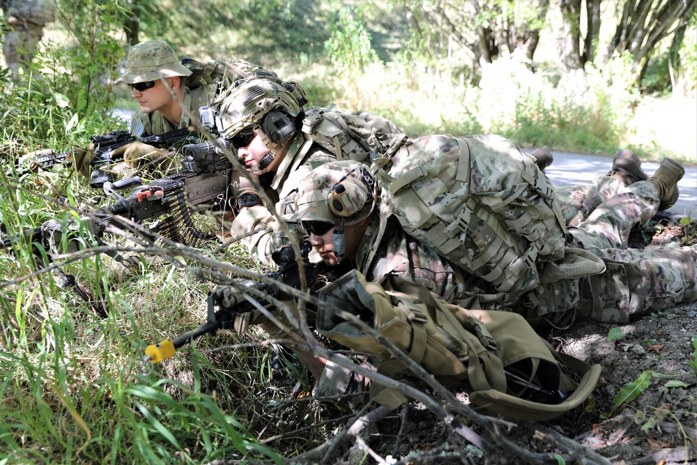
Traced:
<path fill-rule="evenodd" d="M 319 293 L 317 329 L 356 351 L 383 362 L 378 373 L 411 371 L 374 337 L 339 317 L 346 310 L 372 326 L 449 388 L 464 388 L 473 404 L 512 418 L 549 420 L 581 404 L 600 376 L 571 356 L 558 354 L 519 314 L 466 310 L 436 298 L 420 284 L 388 276 L 382 285 L 353 270 Z M 576 372 L 576 383 L 560 369 Z M 371 397 L 396 408 L 401 394 L 373 383 Z"/>

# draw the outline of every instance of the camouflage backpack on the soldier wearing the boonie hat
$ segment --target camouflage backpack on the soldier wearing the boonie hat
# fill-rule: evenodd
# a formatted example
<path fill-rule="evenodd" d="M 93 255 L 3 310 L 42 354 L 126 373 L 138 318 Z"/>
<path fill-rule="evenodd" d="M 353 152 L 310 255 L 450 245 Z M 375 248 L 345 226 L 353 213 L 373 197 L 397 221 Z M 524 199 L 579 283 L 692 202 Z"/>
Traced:
<path fill-rule="evenodd" d="M 254 70 L 261 68 L 235 57 L 211 60 L 207 63 L 185 58 L 181 64 L 191 70 L 190 76 L 183 77 L 184 85 L 189 89 L 210 84 L 217 84 L 217 89 L 225 89 L 238 79 L 244 79 L 252 75 Z"/>

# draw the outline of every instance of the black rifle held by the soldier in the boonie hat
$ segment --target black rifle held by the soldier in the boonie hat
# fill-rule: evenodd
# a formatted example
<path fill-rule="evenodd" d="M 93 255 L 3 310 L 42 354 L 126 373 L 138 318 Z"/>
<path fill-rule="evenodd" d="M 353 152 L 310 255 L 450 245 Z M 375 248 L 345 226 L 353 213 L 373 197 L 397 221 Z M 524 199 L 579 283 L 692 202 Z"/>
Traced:
<path fill-rule="evenodd" d="M 123 155 L 112 156 L 112 150 L 115 148 L 125 146 L 126 144 L 139 140 L 144 144 L 157 148 L 169 149 L 172 146 L 194 144 L 194 142 L 199 142 L 200 136 L 196 131 L 190 131 L 187 128 L 183 128 L 169 132 L 161 132 L 160 134 L 151 136 L 140 137 L 137 139 L 131 134 L 130 131 L 118 130 L 109 132 L 109 134 L 105 135 L 91 136 L 89 140 L 94 147 L 94 155 L 90 162 L 92 172 L 90 174 L 89 185 L 91 188 L 101 189 L 104 186 L 104 183 L 111 181 L 112 179 L 109 165 L 123 160 Z M 52 151 L 49 151 L 49 153 L 43 153 L 42 155 L 38 155 L 29 161 L 42 167 L 43 169 L 51 169 L 57 163 L 65 162 L 68 155 L 75 154 L 78 150 L 80 149 L 63 153 L 52 153 Z"/>

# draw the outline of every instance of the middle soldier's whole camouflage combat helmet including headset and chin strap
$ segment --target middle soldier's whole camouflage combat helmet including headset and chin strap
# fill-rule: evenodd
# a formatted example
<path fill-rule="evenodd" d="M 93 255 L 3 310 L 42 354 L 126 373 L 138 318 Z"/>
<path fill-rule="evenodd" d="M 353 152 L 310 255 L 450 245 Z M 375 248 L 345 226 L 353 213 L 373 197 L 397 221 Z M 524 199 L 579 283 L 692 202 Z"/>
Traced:
<path fill-rule="evenodd" d="M 218 112 L 222 136 L 234 141 L 235 137 L 257 130 L 273 160 L 277 149 L 274 146 L 293 137 L 296 121 L 302 119 L 302 107 L 306 104 L 305 91 L 298 82 L 282 81 L 275 73 L 256 70 L 247 79 L 235 82 L 222 99 Z M 251 139 L 245 142 L 248 144 Z M 259 168 L 266 165 L 260 163 Z"/>

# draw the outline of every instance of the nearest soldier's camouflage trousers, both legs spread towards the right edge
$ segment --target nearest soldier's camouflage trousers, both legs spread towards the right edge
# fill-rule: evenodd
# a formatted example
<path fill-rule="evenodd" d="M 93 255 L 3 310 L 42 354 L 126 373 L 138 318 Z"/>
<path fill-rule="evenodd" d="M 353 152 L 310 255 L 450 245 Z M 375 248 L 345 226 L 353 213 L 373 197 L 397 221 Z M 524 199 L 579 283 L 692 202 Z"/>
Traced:
<path fill-rule="evenodd" d="M 625 323 L 633 315 L 697 300 L 697 247 L 627 249 L 629 230 L 652 218 L 658 206 L 656 186 L 640 181 L 570 228 L 572 246 L 600 257 L 606 270 L 541 285 L 537 316 L 556 324 L 575 316 Z"/>

